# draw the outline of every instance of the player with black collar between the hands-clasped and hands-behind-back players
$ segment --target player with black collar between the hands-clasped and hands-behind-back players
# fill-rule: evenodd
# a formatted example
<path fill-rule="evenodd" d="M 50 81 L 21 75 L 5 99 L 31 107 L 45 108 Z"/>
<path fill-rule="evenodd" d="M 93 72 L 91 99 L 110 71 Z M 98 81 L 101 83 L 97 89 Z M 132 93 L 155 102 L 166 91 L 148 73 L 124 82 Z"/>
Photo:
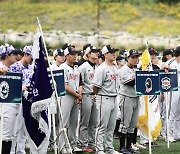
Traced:
<path fill-rule="evenodd" d="M 92 80 L 95 73 L 95 61 L 98 58 L 98 49 L 89 46 L 85 54 L 86 62 L 79 67 L 82 85 L 82 103 L 80 104 L 79 145 L 84 152 L 95 150 L 95 130 L 97 125 L 97 111 L 95 95 L 92 90 Z"/>

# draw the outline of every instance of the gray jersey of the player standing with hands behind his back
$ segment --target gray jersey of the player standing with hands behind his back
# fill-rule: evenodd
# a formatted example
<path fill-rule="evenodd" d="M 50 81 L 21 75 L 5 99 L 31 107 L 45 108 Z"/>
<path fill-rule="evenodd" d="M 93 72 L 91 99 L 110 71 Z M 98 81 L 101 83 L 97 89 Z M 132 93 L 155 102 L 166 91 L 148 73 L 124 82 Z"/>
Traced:
<path fill-rule="evenodd" d="M 103 62 L 95 71 L 92 84 L 99 87 L 98 95 L 117 96 L 119 79 L 116 66 Z"/>

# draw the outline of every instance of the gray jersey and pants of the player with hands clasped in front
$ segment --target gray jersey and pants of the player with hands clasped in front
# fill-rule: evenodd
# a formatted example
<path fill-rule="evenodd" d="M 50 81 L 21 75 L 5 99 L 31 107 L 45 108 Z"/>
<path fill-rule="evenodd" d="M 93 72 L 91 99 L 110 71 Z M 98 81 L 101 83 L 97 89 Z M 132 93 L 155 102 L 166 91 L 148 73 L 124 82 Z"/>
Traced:
<path fill-rule="evenodd" d="M 73 90 L 78 91 L 79 87 L 79 72 L 77 66 L 69 66 L 66 62 L 60 66 L 60 69 L 64 69 L 65 84 L 69 85 Z M 62 96 L 61 102 L 62 111 L 62 123 L 65 128 L 68 129 L 68 137 L 72 147 L 77 145 L 76 141 L 76 128 L 78 123 L 78 111 L 79 105 L 75 104 L 75 97 L 66 93 Z M 61 150 L 65 146 L 64 135 L 60 135 Z"/>

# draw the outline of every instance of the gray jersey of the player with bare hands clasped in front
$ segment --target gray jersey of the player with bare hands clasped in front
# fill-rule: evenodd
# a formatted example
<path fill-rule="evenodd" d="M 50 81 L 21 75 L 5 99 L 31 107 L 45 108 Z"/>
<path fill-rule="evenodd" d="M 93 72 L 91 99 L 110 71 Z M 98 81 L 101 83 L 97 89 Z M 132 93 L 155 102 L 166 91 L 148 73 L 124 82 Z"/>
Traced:
<path fill-rule="evenodd" d="M 77 66 L 69 66 L 66 62 L 60 65 L 60 69 L 64 70 L 64 81 L 73 90 L 78 91 L 79 87 L 79 71 Z"/>

